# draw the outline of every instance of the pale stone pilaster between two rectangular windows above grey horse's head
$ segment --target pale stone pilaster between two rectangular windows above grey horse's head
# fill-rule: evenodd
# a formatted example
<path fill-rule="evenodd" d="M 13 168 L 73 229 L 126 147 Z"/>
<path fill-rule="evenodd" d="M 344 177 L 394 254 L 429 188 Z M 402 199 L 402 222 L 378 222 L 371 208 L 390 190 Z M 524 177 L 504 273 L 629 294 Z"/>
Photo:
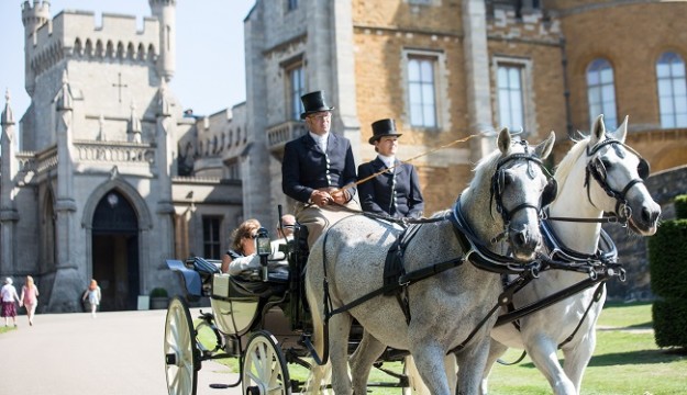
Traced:
<path fill-rule="evenodd" d="M 463 1 L 463 30 L 469 131 L 470 133 L 490 131 L 494 128 L 494 115 L 487 48 L 487 12 L 484 0 Z M 495 138 L 473 138 L 470 161 L 476 162 L 494 150 Z"/>

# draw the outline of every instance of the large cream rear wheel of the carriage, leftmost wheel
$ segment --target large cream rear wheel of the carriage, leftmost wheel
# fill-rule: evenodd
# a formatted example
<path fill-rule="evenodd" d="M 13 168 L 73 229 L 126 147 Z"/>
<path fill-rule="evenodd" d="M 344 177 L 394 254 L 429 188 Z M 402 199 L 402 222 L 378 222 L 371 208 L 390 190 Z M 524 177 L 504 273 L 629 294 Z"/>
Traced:
<path fill-rule="evenodd" d="M 188 304 L 179 296 L 167 308 L 164 351 L 169 395 L 196 395 L 200 357 Z"/>

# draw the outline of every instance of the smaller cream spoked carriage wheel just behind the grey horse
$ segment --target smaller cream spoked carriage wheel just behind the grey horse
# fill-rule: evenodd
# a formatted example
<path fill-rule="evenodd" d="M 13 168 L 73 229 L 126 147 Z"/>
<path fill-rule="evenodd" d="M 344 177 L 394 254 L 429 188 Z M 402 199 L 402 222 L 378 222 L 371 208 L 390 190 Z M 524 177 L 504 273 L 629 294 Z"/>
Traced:
<path fill-rule="evenodd" d="M 291 393 L 290 384 L 277 339 L 264 330 L 253 334 L 243 358 L 243 393 L 288 395 Z"/>

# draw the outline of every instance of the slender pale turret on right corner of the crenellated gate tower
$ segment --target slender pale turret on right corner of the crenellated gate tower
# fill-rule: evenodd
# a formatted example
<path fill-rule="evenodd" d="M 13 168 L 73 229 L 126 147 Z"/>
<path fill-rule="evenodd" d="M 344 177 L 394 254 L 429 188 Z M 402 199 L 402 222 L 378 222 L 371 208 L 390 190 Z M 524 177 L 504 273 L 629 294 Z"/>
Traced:
<path fill-rule="evenodd" d="M 176 0 L 148 0 L 153 15 L 159 21 L 157 74 L 169 81 L 176 68 Z"/>

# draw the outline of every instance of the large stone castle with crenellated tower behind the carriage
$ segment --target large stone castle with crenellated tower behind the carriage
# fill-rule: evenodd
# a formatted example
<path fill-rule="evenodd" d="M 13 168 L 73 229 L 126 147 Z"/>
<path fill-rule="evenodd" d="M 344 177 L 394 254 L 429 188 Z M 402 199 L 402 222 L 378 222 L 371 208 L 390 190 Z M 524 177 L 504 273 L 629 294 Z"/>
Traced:
<path fill-rule="evenodd" d="M 149 4 L 142 30 L 133 16 L 96 26 L 90 12 L 22 5 L 32 104 L 19 127 L 9 95 L 2 112 L 0 274 L 34 275 L 44 311 L 78 308 L 90 278 L 103 308 L 135 308 L 177 286 L 165 259 L 219 258 L 243 218 L 272 230 L 292 203 L 284 144 L 304 133 L 299 98 L 313 90 L 328 92 L 357 162 L 375 155 L 372 122 L 396 119 L 428 213 L 451 205 L 494 142 L 433 148 L 500 126 L 532 142 L 553 129 L 554 165 L 599 113 L 610 127 L 631 115 L 628 143 L 654 173 L 679 176 L 662 204 L 687 191 L 686 2 L 257 0 L 245 103 L 198 119 L 167 87 L 176 1 Z M 645 256 L 621 260 L 646 291 Z"/>

